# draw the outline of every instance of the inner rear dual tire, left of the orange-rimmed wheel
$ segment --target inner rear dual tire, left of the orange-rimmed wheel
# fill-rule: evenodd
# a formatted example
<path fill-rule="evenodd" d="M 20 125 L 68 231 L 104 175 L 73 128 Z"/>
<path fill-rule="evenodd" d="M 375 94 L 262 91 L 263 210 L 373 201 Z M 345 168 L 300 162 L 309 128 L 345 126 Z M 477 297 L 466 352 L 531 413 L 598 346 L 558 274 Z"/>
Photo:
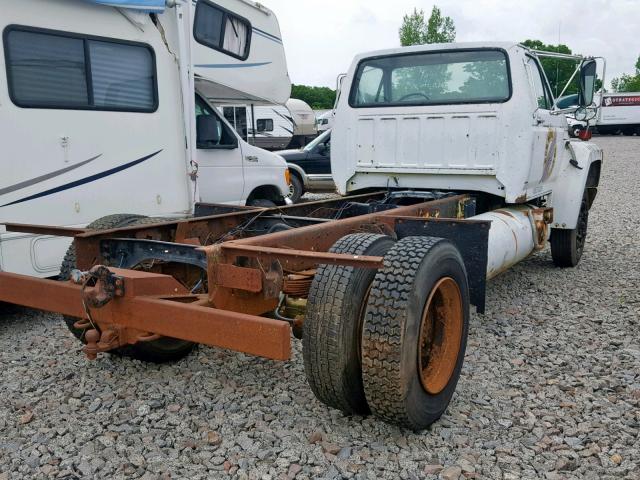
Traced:
<path fill-rule="evenodd" d="M 393 244 L 386 235 L 356 233 L 342 237 L 331 251 L 382 256 Z M 309 291 L 302 337 L 307 380 L 318 400 L 346 414 L 369 413 L 362 386 L 360 341 L 375 274 L 373 269 L 322 265 Z"/>

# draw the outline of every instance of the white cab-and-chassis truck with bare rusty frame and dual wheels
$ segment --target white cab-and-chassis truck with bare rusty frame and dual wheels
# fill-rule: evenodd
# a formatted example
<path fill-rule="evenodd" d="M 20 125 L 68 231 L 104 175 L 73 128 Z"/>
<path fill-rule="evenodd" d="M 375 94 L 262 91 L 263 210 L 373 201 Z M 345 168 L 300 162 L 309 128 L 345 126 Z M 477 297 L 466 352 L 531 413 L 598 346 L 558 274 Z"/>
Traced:
<path fill-rule="evenodd" d="M 321 402 L 424 429 L 454 395 L 487 280 L 547 244 L 557 267 L 583 253 L 602 151 L 569 138 L 541 55 L 515 43 L 358 55 L 333 130 L 343 196 L 198 204 L 153 224 L 7 224 L 73 246 L 62 281 L 0 272 L 0 301 L 62 314 L 90 359 L 175 361 L 201 343 L 283 361 L 293 334 Z M 586 109 L 597 62 L 577 59 Z"/>

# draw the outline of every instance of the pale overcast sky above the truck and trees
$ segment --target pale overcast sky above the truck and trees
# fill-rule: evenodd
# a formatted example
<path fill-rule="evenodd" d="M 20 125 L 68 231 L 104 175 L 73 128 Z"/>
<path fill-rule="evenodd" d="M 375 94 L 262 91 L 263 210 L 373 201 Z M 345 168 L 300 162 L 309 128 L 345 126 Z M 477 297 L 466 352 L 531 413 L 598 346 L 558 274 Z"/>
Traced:
<path fill-rule="evenodd" d="M 358 52 L 399 45 L 398 28 L 421 0 L 261 0 L 280 21 L 293 83 L 335 87 Z M 640 55 L 640 0 L 438 0 L 458 41 L 560 42 L 607 59 L 607 84 Z"/>

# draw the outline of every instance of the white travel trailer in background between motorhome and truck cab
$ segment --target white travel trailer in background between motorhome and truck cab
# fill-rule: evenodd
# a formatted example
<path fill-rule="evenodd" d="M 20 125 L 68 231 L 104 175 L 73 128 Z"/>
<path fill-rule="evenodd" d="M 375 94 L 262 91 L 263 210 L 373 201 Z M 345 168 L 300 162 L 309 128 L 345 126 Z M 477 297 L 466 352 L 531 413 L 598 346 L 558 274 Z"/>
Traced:
<path fill-rule="evenodd" d="M 222 112 L 238 135 L 265 150 L 300 148 L 318 135 L 311 107 L 295 98 L 283 105 L 224 105 Z"/>

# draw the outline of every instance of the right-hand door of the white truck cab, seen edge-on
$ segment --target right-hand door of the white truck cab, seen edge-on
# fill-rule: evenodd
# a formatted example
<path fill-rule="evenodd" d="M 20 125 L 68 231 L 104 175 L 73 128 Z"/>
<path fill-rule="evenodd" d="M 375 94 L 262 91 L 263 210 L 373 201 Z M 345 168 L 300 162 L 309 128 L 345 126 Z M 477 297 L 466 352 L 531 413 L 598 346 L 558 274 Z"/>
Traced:
<path fill-rule="evenodd" d="M 542 66 L 534 57 L 527 57 L 527 73 L 537 107 L 533 113 L 533 145 L 527 178 L 527 196 L 545 193 L 552 173 L 564 154 L 567 121 L 564 115 L 552 115 L 553 96 L 542 73 Z"/>

